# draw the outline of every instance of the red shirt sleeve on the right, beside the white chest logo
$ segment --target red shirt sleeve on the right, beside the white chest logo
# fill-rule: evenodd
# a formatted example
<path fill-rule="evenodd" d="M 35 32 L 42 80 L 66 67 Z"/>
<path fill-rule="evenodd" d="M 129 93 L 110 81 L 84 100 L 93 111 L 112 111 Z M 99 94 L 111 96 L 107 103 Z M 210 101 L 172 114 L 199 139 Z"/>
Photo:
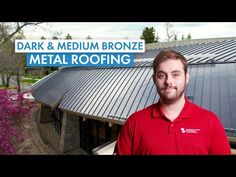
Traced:
<path fill-rule="evenodd" d="M 212 155 L 230 155 L 231 148 L 229 140 L 223 125 L 218 117 L 214 117 L 211 128 L 210 149 L 209 153 Z"/>

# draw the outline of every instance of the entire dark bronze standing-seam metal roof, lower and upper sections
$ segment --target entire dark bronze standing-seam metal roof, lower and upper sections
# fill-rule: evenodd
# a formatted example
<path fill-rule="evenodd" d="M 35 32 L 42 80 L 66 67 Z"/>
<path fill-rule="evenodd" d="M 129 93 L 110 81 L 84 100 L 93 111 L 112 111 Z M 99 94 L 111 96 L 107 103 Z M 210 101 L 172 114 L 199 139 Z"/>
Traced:
<path fill-rule="evenodd" d="M 236 40 L 172 47 L 189 62 L 186 95 L 236 128 Z M 159 98 L 152 60 L 161 49 L 137 54 L 130 68 L 63 68 L 33 86 L 36 100 L 65 111 L 123 122 Z"/>

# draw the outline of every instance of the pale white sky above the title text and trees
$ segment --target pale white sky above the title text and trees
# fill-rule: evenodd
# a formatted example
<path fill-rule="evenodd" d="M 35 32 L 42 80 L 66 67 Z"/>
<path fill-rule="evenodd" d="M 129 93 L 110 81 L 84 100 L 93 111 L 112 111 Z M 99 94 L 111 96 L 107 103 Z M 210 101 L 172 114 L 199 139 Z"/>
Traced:
<path fill-rule="evenodd" d="M 236 22 L 169 22 L 170 32 L 192 39 L 236 37 Z M 65 38 L 67 34 L 72 39 L 139 39 L 145 27 L 154 27 L 160 42 L 167 41 L 166 22 L 45 22 L 40 28 L 24 29 L 26 39 L 40 39 L 44 36 Z"/>

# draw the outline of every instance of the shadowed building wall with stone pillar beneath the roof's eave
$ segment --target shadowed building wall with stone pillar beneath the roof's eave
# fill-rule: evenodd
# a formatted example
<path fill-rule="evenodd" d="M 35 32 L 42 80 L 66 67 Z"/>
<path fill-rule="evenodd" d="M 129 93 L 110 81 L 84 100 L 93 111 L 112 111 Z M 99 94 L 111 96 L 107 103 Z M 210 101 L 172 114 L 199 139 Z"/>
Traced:
<path fill-rule="evenodd" d="M 42 105 L 38 123 L 43 138 L 59 153 L 81 148 L 92 154 L 92 149 L 116 140 L 122 127 L 108 122 L 85 119 L 67 112 L 61 111 L 60 114 L 58 112 L 60 111 L 57 109 L 52 110 Z"/>

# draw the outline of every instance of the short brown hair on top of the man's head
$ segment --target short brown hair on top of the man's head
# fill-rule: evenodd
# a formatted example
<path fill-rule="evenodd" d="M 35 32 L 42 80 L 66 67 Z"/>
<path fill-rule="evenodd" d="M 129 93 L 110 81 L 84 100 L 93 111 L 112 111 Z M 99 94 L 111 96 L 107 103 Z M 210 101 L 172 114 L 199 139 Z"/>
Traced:
<path fill-rule="evenodd" d="M 155 57 L 153 61 L 152 67 L 153 67 L 154 75 L 156 74 L 156 70 L 159 64 L 169 59 L 180 60 L 183 64 L 184 72 L 185 74 L 187 74 L 188 62 L 181 53 L 173 51 L 173 50 L 162 50 L 161 52 L 158 53 L 158 55 Z"/>

